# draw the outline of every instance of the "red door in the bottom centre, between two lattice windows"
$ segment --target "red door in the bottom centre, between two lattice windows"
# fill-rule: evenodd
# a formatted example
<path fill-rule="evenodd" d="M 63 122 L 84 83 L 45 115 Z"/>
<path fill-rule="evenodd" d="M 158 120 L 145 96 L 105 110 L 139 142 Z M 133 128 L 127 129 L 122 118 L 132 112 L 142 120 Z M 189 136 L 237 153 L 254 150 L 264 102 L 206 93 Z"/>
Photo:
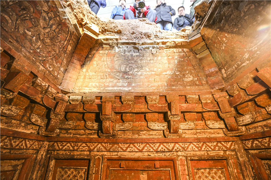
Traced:
<path fill-rule="evenodd" d="M 176 180 L 176 162 L 167 158 L 107 158 L 103 180 Z"/>

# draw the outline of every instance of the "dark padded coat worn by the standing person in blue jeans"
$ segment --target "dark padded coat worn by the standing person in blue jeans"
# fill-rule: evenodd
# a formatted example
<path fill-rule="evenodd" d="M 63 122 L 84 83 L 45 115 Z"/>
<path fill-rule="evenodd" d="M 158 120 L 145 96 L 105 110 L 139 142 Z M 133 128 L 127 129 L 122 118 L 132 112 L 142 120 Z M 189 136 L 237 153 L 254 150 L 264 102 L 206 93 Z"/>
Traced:
<path fill-rule="evenodd" d="M 171 16 L 175 15 L 175 10 L 171 6 L 167 6 L 166 3 L 162 3 L 158 5 L 154 10 L 157 12 L 156 22 L 169 21 L 172 23 Z"/>

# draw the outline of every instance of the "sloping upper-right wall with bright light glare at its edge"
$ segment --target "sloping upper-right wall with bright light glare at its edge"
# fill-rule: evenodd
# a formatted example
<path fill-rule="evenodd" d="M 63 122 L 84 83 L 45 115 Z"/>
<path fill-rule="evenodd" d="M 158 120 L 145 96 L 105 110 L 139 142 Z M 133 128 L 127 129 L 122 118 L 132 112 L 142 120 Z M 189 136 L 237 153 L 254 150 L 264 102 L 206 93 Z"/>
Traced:
<path fill-rule="evenodd" d="M 212 15 L 200 32 L 224 81 L 229 83 L 255 62 L 261 64 L 265 61 L 270 67 L 271 31 L 270 27 L 261 28 L 262 24 L 269 22 L 269 17 L 258 19 L 254 16 L 259 12 L 268 13 L 270 2 L 238 1 L 231 4 L 220 1 L 213 5 Z"/>

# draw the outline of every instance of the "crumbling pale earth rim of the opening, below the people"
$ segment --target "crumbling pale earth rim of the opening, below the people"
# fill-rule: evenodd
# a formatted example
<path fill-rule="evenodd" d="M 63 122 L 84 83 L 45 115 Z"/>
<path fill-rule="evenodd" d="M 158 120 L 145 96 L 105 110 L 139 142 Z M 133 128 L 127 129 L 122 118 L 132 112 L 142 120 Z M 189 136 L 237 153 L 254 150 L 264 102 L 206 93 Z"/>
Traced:
<path fill-rule="evenodd" d="M 190 27 L 179 32 L 160 30 L 154 22 L 150 22 L 147 18 L 131 20 L 99 18 L 89 9 L 86 1 L 75 0 L 65 2 L 67 7 L 71 5 L 73 8 L 72 11 L 74 12 L 77 24 L 80 28 L 83 28 L 87 23 L 93 23 L 98 26 L 99 35 L 112 32 L 121 34 L 121 40 L 145 41 L 165 38 L 187 39 L 187 35 L 191 32 Z"/>

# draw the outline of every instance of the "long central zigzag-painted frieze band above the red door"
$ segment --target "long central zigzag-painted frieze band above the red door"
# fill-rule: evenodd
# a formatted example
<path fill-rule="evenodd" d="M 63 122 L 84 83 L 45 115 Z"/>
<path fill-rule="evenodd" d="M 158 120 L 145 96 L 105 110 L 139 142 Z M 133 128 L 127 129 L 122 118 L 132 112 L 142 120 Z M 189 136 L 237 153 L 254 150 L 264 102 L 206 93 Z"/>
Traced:
<path fill-rule="evenodd" d="M 225 151 L 234 150 L 235 142 L 200 143 L 77 143 L 49 142 L 48 150 L 116 151 L 116 152 L 167 152 L 167 151 Z"/>

